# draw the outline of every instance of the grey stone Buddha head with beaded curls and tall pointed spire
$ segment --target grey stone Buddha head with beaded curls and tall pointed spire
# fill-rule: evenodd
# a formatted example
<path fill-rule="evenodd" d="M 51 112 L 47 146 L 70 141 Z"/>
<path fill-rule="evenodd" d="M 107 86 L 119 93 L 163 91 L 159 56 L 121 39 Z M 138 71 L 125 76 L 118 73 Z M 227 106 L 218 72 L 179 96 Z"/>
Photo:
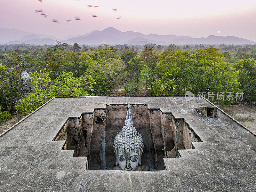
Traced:
<path fill-rule="evenodd" d="M 116 165 L 118 164 L 121 170 L 135 171 L 137 166 L 141 165 L 141 155 L 144 146 L 140 133 L 132 125 L 130 98 L 125 126 L 121 132 L 116 134 L 113 147 L 116 155 Z"/>

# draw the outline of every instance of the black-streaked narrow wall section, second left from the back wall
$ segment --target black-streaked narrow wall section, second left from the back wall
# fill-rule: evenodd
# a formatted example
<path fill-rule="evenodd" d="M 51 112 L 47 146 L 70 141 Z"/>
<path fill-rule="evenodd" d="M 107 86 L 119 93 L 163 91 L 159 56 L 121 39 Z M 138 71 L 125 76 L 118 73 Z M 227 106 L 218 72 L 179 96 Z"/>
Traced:
<path fill-rule="evenodd" d="M 91 139 L 92 132 L 92 117 L 93 113 L 84 113 L 82 115 L 82 127 L 79 131 L 79 141 L 78 141 L 78 156 L 79 157 L 88 157 L 89 155 L 89 144 Z"/>

